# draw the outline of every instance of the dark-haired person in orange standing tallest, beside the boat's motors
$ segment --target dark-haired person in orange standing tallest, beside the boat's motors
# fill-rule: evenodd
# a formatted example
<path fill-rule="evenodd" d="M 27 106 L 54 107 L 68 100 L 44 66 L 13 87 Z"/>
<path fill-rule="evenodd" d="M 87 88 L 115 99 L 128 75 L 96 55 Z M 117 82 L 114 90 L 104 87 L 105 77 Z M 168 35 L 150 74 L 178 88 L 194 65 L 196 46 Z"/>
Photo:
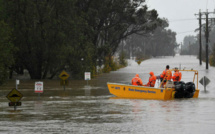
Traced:
<path fill-rule="evenodd" d="M 166 69 L 160 75 L 160 79 L 162 82 L 162 86 L 166 85 L 166 82 L 172 79 L 172 72 L 171 70 L 169 70 L 169 65 L 166 65 Z"/>

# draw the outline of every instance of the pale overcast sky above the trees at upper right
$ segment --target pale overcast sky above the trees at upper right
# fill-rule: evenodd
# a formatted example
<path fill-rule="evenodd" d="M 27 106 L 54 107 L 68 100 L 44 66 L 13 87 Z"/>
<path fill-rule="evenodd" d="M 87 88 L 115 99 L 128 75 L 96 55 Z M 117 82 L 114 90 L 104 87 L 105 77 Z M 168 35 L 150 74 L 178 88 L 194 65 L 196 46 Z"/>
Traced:
<path fill-rule="evenodd" d="M 158 11 L 160 18 L 169 20 L 169 29 L 177 33 L 177 43 L 183 42 L 186 35 L 197 35 L 194 31 L 199 27 L 199 21 L 194 14 L 198 14 L 199 9 L 201 12 L 206 12 L 206 9 L 214 12 L 215 9 L 215 0 L 146 0 L 146 3 L 149 9 Z"/>

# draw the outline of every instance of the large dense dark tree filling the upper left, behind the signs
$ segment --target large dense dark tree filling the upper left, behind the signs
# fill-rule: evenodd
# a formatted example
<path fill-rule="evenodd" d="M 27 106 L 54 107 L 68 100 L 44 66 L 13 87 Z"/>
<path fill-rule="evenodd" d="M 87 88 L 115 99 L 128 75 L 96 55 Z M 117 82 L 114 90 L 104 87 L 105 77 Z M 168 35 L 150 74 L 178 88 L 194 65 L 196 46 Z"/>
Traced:
<path fill-rule="evenodd" d="M 53 78 L 81 59 L 87 49 L 84 44 L 90 43 L 84 36 L 86 24 L 77 15 L 75 2 L 4 1 L 6 20 L 14 29 L 14 45 L 18 48 L 13 67 L 17 73 L 27 69 L 32 79 L 47 78 L 48 74 Z M 76 66 L 72 68 L 76 70 Z"/>

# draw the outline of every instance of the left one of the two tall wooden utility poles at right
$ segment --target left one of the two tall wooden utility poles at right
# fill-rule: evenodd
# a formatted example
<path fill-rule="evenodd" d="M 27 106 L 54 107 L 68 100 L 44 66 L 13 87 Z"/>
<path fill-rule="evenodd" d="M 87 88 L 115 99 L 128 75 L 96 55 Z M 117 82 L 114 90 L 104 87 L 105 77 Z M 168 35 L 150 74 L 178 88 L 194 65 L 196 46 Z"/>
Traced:
<path fill-rule="evenodd" d="M 202 14 L 199 10 L 199 64 L 202 65 Z"/>

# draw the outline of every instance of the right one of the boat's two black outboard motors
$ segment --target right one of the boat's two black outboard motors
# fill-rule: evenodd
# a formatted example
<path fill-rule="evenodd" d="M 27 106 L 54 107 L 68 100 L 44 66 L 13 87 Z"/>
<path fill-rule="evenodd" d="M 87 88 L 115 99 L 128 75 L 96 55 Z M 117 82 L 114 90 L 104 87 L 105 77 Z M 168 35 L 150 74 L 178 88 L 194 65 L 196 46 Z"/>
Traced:
<path fill-rule="evenodd" d="M 184 98 L 192 98 L 195 90 L 195 84 L 193 82 L 187 82 L 185 84 Z"/>

